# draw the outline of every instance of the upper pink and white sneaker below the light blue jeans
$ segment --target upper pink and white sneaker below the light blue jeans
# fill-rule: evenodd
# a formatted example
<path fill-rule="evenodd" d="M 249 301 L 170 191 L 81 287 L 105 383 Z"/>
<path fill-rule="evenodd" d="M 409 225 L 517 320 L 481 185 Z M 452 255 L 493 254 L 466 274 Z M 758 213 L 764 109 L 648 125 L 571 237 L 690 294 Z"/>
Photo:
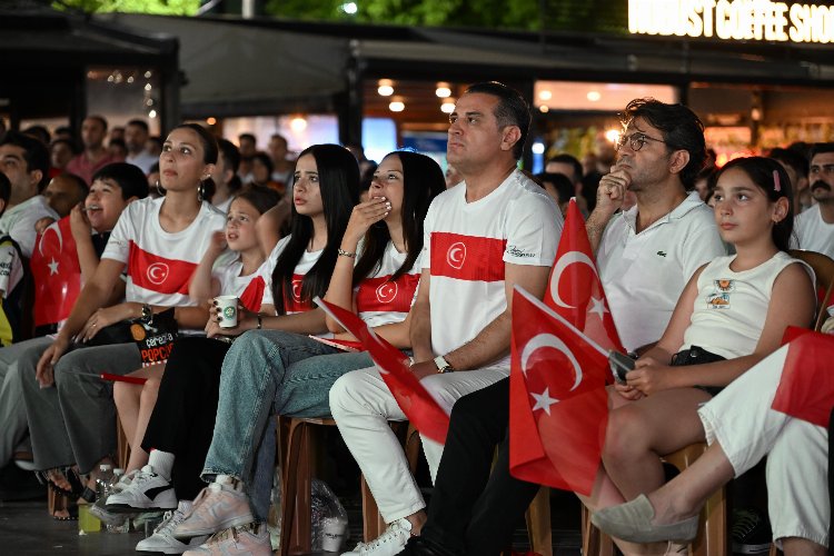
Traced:
<path fill-rule="evenodd" d="M 255 522 L 249 497 L 242 484 L 231 477 L 218 476 L 215 483 L 200 490 L 191 513 L 173 529 L 176 538 L 212 535 L 224 529 Z"/>

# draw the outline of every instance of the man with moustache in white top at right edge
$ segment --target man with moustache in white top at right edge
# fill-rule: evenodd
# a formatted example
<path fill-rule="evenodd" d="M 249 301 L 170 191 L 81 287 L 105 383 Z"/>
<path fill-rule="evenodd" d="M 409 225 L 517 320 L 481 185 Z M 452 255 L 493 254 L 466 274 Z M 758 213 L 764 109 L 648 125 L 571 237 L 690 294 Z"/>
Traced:
<path fill-rule="evenodd" d="M 834 142 L 812 148 L 808 181 L 816 205 L 796 216 L 795 247 L 834 258 Z"/>

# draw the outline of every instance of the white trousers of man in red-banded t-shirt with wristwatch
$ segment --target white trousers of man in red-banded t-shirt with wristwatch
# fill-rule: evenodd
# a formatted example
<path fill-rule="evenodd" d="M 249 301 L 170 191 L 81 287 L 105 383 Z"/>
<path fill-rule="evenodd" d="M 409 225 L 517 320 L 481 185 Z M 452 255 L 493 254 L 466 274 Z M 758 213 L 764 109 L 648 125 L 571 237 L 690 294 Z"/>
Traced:
<path fill-rule="evenodd" d="M 459 398 L 509 376 L 506 367 L 447 373 L 426 377 L 420 384 L 447 413 Z M 406 420 L 376 367 L 342 375 L 330 388 L 330 413 L 345 444 L 368 483 L 379 513 L 386 523 L 409 516 L 426 507 L 417 483 L 408 468 L 403 447 L 388 426 L 389 420 Z M 440 465 L 443 445 L 423 438 L 434 483 Z"/>

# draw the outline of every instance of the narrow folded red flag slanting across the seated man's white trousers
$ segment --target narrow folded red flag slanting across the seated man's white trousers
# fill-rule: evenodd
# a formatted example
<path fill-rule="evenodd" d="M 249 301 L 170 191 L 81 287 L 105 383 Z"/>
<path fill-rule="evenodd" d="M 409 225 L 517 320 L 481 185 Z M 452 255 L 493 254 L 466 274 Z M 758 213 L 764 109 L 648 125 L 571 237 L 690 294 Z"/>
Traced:
<path fill-rule="evenodd" d="M 411 425 L 426 438 L 445 444 L 449 416 L 414 376 L 403 351 L 377 336 L 354 312 L 324 299 L 316 298 L 316 302 L 368 350 L 379 367 L 383 380 Z"/>

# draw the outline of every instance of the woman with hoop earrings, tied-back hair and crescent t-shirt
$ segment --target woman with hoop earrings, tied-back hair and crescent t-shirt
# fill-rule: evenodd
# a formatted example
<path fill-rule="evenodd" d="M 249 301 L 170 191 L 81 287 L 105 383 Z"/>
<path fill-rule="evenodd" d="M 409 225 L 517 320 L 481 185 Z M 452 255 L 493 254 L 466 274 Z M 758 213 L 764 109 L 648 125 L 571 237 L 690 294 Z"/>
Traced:
<path fill-rule="evenodd" d="M 59 484 L 56 469 L 75 465 L 63 481 L 77 483 L 78 471 L 90 474 L 92 485 L 99 464 L 110 463 L 116 453 L 112 386 L 98 376 L 123 375 L 146 363 L 128 330 L 152 326 L 171 309 L 175 331 L 197 332 L 208 315 L 182 291 L 211 234 L 224 226 L 224 216 L 199 193 L 211 180 L 217 141 L 200 126 L 183 123 L 168 135 L 159 161 L 167 195 L 137 200 L 123 210 L 96 272 L 37 360 L 37 381 L 23 380 L 36 467 Z M 112 304 L 123 275 L 125 302 Z M 33 363 L 21 360 L 19 366 L 33 368 Z M 75 487 L 78 492 L 79 485 Z M 88 490 L 85 497 L 95 494 Z"/>

